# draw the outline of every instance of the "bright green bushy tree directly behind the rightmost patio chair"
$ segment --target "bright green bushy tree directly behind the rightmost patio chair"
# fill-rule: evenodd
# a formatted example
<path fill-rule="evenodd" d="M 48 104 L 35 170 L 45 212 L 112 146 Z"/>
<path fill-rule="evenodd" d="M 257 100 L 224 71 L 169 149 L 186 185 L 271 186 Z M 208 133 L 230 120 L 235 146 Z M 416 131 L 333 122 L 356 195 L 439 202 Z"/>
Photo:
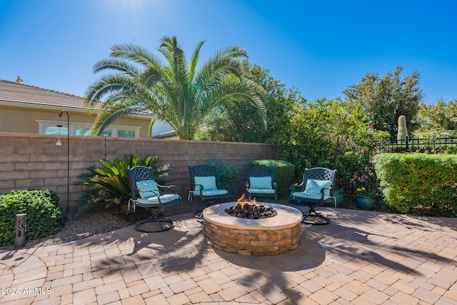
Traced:
<path fill-rule="evenodd" d="M 320 99 L 296 105 L 289 134 L 278 141 L 278 158 L 296 165 L 296 175 L 306 167 L 337 169 L 338 186 L 353 174 L 366 176 L 369 159 L 387 136 L 370 131 L 361 104 Z"/>

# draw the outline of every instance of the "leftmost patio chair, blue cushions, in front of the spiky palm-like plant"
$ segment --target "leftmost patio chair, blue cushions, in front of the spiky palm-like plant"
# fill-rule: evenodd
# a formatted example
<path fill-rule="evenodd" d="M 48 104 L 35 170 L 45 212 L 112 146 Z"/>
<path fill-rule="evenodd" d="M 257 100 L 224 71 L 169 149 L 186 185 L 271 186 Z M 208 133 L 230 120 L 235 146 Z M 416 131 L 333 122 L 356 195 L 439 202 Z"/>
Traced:
<path fill-rule="evenodd" d="M 140 221 L 135 225 L 136 231 L 151 233 L 169 230 L 173 227 L 173 221 L 168 218 L 159 218 L 159 213 L 169 206 L 179 204 L 182 200 L 178 194 L 181 187 L 175 185 L 163 186 L 156 183 L 154 170 L 146 166 L 134 166 L 129 170 L 131 179 L 131 199 L 130 204 L 150 209 L 152 215 L 149 219 Z M 171 194 L 164 194 L 162 189 L 171 190 Z M 139 197 L 137 197 L 137 194 Z M 149 223 L 154 223 L 154 229 L 149 229 Z M 145 227 L 145 228 L 143 228 Z"/>

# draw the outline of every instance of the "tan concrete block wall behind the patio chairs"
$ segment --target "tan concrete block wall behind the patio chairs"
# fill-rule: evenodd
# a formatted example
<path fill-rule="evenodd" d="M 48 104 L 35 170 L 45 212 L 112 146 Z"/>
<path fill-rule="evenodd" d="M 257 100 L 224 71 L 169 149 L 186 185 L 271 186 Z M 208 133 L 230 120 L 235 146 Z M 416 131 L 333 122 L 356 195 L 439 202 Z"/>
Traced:
<path fill-rule="evenodd" d="M 233 161 L 238 165 L 238 189 L 242 191 L 246 168 L 251 161 L 275 159 L 271 144 L 61 136 L 61 146 L 56 146 L 58 137 L 0 132 L 0 194 L 19 189 L 50 189 L 56 191 L 61 206 L 66 209 L 69 166 L 68 206 L 74 209 L 83 193 L 82 186 L 74 183 L 88 166 L 96 166 L 102 159 L 149 154 L 159 156 L 158 165 L 170 164 L 167 179 L 181 186 L 181 196 L 187 199 L 190 189 L 188 166 L 203 164 L 206 160 Z"/>

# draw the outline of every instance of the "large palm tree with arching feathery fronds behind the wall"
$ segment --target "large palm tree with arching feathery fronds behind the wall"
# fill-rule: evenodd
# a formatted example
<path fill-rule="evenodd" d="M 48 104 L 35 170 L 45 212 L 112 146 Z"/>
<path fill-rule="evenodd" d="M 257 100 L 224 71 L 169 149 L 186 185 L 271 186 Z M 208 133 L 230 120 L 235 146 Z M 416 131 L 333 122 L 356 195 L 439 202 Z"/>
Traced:
<path fill-rule="evenodd" d="M 113 46 L 110 58 L 94 65 L 94 73 L 107 69 L 116 73 L 91 84 L 84 99 L 86 106 L 103 101 L 92 133 L 101 134 L 118 118 L 148 113 L 151 126 L 156 120 L 165 121 L 179 139 L 191 140 L 214 107 L 236 103 L 255 105 L 266 122 L 264 89 L 243 76 L 239 59 L 247 58 L 246 50 L 241 46 L 219 49 L 197 69 L 203 44 L 197 44 L 188 63 L 176 37 L 165 36 L 159 52 L 166 64 L 140 46 Z"/>

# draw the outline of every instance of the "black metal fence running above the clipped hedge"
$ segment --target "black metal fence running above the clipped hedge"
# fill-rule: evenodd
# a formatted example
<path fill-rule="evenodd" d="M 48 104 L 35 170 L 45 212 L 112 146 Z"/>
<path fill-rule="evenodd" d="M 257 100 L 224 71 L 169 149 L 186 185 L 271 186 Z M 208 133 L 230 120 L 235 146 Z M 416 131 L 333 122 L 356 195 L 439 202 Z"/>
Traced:
<path fill-rule="evenodd" d="M 424 154 L 457 154 L 457 138 L 424 138 L 393 140 L 381 148 L 388 153 L 424 153 Z"/>

